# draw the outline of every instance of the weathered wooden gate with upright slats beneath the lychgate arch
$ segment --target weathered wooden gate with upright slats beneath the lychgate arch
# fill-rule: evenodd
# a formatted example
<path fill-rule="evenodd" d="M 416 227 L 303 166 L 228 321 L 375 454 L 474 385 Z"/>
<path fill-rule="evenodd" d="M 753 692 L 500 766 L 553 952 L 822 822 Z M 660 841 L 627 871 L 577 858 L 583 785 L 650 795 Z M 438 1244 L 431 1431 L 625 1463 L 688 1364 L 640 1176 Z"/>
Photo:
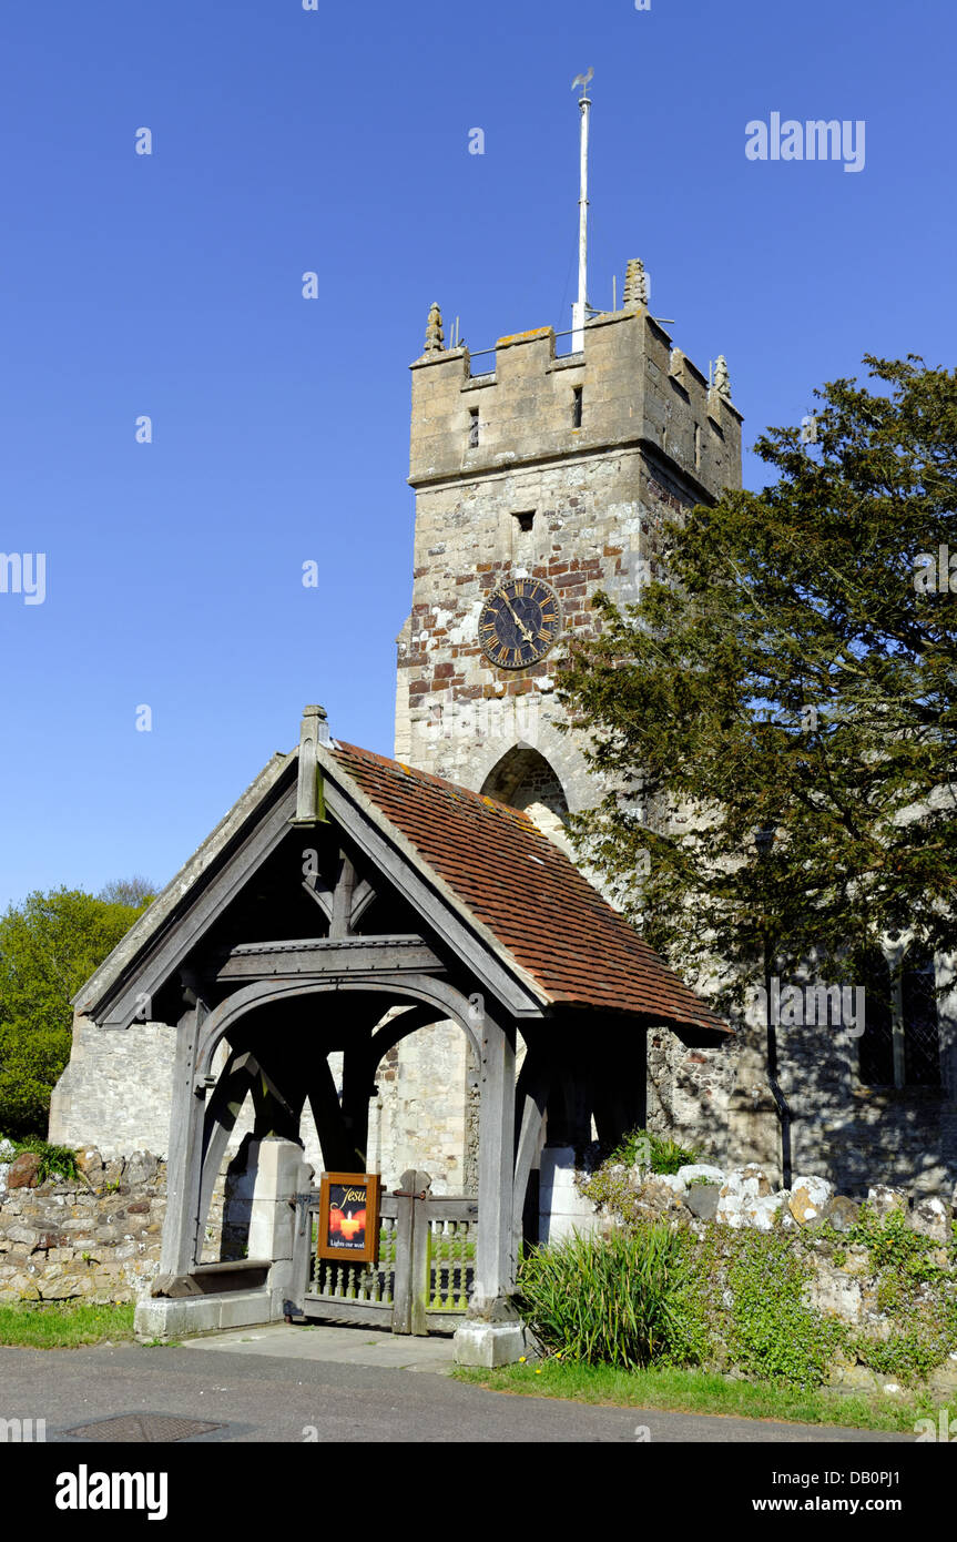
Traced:
<path fill-rule="evenodd" d="M 302 1315 L 391 1328 L 393 1334 L 452 1332 L 475 1281 L 478 1200 L 430 1189 L 428 1173 L 410 1169 L 398 1189 L 382 1194 L 376 1263 L 317 1258 L 319 1192 L 297 1195 Z"/>

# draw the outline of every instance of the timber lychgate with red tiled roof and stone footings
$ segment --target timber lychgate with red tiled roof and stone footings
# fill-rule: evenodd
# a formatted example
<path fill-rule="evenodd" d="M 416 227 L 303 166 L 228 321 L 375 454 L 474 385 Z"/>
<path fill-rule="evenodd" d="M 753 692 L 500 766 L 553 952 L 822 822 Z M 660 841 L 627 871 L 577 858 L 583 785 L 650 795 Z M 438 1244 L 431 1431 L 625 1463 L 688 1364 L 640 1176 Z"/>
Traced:
<path fill-rule="evenodd" d="M 479 1363 L 522 1351 L 516 1263 L 555 1207 L 549 1152 L 643 1119 L 646 1027 L 693 1044 L 727 1032 L 526 813 L 330 740 L 321 708 L 77 1012 L 88 1056 L 174 1025 L 168 1209 L 140 1331 L 296 1312 L 398 1332 L 458 1323 L 456 1354 Z M 458 1027 L 475 1070 L 476 1181 L 442 1195 L 418 1167 L 382 1173 L 379 1258 L 324 1268 L 314 1167 L 373 1170 L 378 1078 L 436 1022 Z"/>

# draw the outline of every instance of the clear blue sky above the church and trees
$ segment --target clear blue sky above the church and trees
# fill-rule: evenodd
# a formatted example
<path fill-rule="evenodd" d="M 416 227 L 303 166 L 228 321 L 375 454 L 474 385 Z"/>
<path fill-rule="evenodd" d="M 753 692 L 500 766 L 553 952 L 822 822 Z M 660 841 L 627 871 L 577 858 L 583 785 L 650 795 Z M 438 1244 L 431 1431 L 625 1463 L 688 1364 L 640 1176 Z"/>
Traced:
<path fill-rule="evenodd" d="M 590 299 L 643 258 L 747 446 L 865 352 L 954 367 L 955 43 L 952 0 L 11 6 L 0 550 L 46 597 L 0 594 L 0 904 L 163 884 L 305 702 L 390 752 L 407 367 L 431 299 L 570 325 L 586 66 Z M 749 160 L 775 111 L 863 170 Z"/>

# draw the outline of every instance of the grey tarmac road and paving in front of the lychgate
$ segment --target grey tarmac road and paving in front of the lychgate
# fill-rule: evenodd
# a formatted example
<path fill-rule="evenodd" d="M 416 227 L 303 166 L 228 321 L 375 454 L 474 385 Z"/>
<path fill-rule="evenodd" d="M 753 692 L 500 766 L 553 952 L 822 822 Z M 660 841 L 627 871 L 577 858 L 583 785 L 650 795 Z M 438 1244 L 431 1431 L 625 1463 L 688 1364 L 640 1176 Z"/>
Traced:
<path fill-rule="evenodd" d="M 516 1397 L 456 1382 L 452 1338 L 364 1328 L 234 1329 L 180 1346 L 0 1348 L 0 1416 L 45 1419 L 46 1442 L 97 1420 L 174 1416 L 216 1428 L 183 1443 L 874 1443 L 914 1436 Z M 129 1428 L 126 1425 L 125 1428 Z M 148 1428 L 143 1426 L 143 1428 Z M 154 1426 L 163 1428 L 163 1426 Z M 166 1426 L 168 1428 L 168 1426 Z M 149 1439 L 145 1434 L 125 1439 Z M 168 1439 L 154 1434 L 154 1440 Z M 97 1449 L 103 1449 L 97 1445 Z"/>

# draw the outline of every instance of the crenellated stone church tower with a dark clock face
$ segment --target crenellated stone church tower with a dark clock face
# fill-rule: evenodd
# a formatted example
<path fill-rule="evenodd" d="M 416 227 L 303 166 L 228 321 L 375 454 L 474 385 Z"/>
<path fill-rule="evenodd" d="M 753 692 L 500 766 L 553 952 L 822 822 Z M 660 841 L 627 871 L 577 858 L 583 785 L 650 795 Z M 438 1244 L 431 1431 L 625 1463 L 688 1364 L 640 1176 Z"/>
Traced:
<path fill-rule="evenodd" d="M 468 348 L 444 347 L 431 307 L 411 365 L 415 572 L 398 638 L 396 759 L 529 810 L 558 839 L 558 820 L 598 796 L 581 743 L 556 726 L 564 645 L 593 635 L 598 591 L 638 598 L 664 517 L 741 486 L 724 359 L 709 386 L 672 345 L 641 262 L 623 308 L 578 338 L 564 356 L 552 327 L 499 338 L 476 372 Z M 390 1072 L 384 1156 L 395 1143 L 390 1166 L 413 1160 L 404 1132 L 427 1109 L 442 1135 L 416 1163 L 468 1184 L 462 1035 L 438 1027 L 415 1050 Z"/>

